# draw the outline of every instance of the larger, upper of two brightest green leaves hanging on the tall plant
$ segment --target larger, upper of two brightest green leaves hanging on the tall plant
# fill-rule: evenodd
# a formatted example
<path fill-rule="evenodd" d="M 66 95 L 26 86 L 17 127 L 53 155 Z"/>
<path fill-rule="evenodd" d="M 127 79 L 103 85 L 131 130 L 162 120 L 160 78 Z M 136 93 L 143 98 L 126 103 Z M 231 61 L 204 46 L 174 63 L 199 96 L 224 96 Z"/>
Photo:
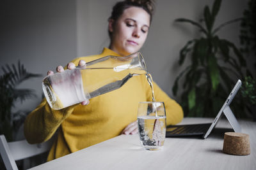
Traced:
<path fill-rule="evenodd" d="M 214 92 L 216 92 L 218 85 L 220 83 L 220 73 L 218 69 L 217 60 L 213 54 L 209 56 L 208 66 L 209 66 L 209 74 L 211 77 L 212 89 Z"/>

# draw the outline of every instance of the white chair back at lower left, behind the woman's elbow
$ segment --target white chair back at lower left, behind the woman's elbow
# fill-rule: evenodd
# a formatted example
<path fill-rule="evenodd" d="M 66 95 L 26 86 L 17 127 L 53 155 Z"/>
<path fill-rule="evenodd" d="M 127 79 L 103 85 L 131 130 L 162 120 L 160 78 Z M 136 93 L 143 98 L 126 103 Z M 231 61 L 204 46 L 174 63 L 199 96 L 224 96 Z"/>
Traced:
<path fill-rule="evenodd" d="M 18 170 L 16 160 L 22 160 L 50 150 L 53 139 L 45 143 L 31 145 L 26 140 L 7 142 L 5 136 L 0 135 L 0 153 L 7 170 Z"/>

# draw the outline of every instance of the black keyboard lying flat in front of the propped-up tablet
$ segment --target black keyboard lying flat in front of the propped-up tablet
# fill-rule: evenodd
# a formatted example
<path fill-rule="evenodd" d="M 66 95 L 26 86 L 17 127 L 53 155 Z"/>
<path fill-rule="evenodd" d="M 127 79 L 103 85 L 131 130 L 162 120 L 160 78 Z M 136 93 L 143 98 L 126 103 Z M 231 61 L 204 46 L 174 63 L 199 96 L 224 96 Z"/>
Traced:
<path fill-rule="evenodd" d="M 203 135 L 210 126 L 211 124 L 169 125 L 166 127 L 166 137 Z"/>

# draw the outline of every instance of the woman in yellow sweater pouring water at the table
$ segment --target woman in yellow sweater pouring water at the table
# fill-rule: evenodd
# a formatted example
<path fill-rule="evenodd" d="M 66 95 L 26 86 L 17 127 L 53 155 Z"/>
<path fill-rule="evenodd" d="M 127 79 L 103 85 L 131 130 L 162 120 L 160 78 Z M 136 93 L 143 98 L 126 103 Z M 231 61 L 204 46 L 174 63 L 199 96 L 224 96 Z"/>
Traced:
<path fill-rule="evenodd" d="M 122 1 L 113 7 L 109 17 L 109 48 L 99 55 L 79 57 L 68 63 L 67 69 L 106 55 L 124 56 L 140 50 L 147 39 L 152 18 L 150 1 Z M 57 72 L 63 71 L 58 66 Z M 49 71 L 48 74 L 53 74 Z M 156 83 L 157 101 L 166 106 L 167 124 L 182 120 L 182 108 L 170 99 Z M 58 129 L 58 137 L 47 160 L 56 159 L 95 145 L 119 134 L 138 132 L 136 115 L 140 101 L 151 101 L 150 86 L 144 75 L 132 77 L 118 90 L 93 97 L 81 104 L 62 110 L 52 110 L 44 99 L 26 118 L 24 132 L 29 143 L 47 141 Z"/>

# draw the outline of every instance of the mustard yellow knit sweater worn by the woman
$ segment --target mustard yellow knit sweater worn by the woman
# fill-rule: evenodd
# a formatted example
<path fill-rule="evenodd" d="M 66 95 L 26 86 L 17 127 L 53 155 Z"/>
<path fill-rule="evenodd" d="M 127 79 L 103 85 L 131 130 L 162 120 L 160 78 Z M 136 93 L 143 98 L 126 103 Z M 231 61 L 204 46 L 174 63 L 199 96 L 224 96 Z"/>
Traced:
<path fill-rule="evenodd" d="M 100 55 L 72 60 L 86 62 L 117 53 L 104 48 Z M 156 101 L 166 107 L 167 125 L 177 124 L 183 118 L 179 104 L 170 99 L 154 83 Z M 138 103 L 152 101 L 152 93 L 145 75 L 134 76 L 120 89 L 90 99 L 90 104 L 76 104 L 62 110 L 52 110 L 45 99 L 25 120 L 24 134 L 29 143 L 42 143 L 58 129 L 47 160 L 56 159 L 96 143 L 118 136 L 137 117 Z"/>

